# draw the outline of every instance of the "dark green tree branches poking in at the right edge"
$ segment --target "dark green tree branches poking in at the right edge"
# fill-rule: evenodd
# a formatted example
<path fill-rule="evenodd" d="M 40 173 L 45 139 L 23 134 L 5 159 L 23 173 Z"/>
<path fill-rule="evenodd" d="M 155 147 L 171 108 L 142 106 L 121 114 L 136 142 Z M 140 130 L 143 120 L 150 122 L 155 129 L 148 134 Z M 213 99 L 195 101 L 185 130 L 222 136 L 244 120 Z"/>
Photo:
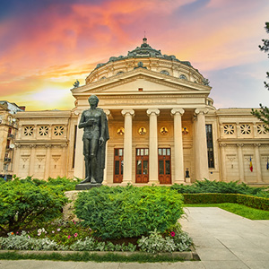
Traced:
<path fill-rule="evenodd" d="M 269 33 L 269 22 L 265 22 L 265 30 L 267 33 Z M 269 39 L 262 39 L 264 42 L 263 46 L 259 46 L 261 51 L 264 51 L 265 53 L 269 51 Z M 269 54 L 268 54 L 269 57 Z M 266 78 L 269 79 L 269 72 L 266 72 Z M 269 91 L 269 83 L 265 83 L 265 88 Z M 269 108 L 263 106 L 260 104 L 260 110 L 254 110 L 252 109 L 251 114 L 256 116 L 258 119 L 260 119 L 262 122 L 265 123 L 265 128 L 269 131 Z"/>

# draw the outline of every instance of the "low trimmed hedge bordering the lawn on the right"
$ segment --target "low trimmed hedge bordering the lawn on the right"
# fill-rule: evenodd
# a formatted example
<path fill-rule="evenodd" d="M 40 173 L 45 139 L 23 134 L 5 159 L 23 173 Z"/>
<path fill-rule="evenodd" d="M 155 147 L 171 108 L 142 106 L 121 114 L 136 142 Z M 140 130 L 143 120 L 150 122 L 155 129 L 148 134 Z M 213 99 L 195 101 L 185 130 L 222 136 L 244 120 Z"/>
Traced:
<path fill-rule="evenodd" d="M 248 207 L 269 211 L 269 198 L 239 194 L 182 194 L 184 204 L 243 204 Z"/>

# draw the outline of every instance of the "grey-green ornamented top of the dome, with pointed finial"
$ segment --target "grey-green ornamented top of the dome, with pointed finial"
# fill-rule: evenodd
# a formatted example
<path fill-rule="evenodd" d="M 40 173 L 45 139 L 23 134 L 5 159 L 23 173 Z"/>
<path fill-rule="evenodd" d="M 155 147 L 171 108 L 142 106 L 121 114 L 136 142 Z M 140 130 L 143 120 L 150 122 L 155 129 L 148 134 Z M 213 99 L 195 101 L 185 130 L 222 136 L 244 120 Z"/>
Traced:
<path fill-rule="evenodd" d="M 181 63 L 183 65 L 188 65 L 188 66 L 193 67 L 190 64 L 190 62 L 188 62 L 188 61 L 179 61 L 177 59 L 177 57 L 174 56 L 174 55 L 171 55 L 171 56 L 168 56 L 166 54 L 162 55 L 161 54 L 161 50 L 157 50 L 157 49 L 152 48 L 147 43 L 147 39 L 146 38 L 143 38 L 143 43 L 141 44 L 141 46 L 134 48 L 134 50 L 132 50 L 132 51 L 128 51 L 127 56 L 117 56 L 117 57 L 116 56 L 111 56 L 109 58 L 109 61 L 107 63 L 105 63 L 105 64 L 98 64 L 98 65 L 96 65 L 95 69 L 96 68 L 99 68 L 102 65 L 106 65 L 108 63 L 111 63 L 111 62 L 116 62 L 116 61 L 120 61 L 120 60 L 127 59 L 127 58 L 138 58 L 138 57 L 161 58 L 161 59 L 166 59 L 166 60 L 170 60 L 170 61 L 176 61 L 176 62 Z"/>

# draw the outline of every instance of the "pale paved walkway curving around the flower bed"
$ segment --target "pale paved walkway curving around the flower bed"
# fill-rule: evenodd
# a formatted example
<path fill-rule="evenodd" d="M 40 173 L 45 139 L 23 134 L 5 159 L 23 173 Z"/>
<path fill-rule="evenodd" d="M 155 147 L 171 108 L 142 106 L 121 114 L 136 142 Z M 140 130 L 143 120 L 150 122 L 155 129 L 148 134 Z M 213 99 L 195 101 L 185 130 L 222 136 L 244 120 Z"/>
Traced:
<path fill-rule="evenodd" d="M 4 261 L 0 269 L 268 269 L 269 221 L 250 221 L 217 207 L 186 208 L 180 221 L 194 239 L 201 261 L 183 263 L 93 263 L 53 261 Z"/>

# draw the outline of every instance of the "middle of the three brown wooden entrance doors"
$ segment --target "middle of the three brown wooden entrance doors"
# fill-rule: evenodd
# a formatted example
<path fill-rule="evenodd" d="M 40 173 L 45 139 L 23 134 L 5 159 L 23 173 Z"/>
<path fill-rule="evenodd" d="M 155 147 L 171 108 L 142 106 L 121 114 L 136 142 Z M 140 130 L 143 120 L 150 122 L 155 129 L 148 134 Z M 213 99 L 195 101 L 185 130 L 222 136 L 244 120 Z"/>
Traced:
<path fill-rule="evenodd" d="M 149 149 L 136 149 L 135 183 L 149 182 Z"/>

